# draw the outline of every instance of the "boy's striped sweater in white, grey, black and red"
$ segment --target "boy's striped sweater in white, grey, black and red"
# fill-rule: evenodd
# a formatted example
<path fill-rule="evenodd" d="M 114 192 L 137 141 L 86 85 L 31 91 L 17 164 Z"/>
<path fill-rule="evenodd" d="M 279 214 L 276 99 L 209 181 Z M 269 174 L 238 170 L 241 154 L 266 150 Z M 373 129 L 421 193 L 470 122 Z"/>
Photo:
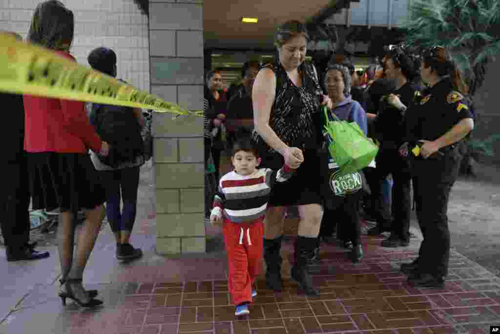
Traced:
<path fill-rule="evenodd" d="M 234 223 L 248 223 L 261 219 L 265 214 L 269 193 L 274 182 L 287 181 L 293 170 L 284 165 L 280 170 L 257 169 L 251 175 L 235 171 L 222 176 L 213 200 L 211 215 L 223 216 Z"/>

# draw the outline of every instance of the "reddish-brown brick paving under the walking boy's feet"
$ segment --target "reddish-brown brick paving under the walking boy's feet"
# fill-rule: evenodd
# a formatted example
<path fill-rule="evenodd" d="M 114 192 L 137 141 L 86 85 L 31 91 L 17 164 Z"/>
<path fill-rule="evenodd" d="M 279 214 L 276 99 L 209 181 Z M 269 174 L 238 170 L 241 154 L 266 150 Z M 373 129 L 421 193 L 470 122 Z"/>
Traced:
<path fill-rule="evenodd" d="M 51 308 L 58 313 L 52 316 L 52 332 L 71 334 L 485 333 L 500 323 L 498 277 L 452 252 L 444 289 L 412 288 L 397 268 L 416 254 L 418 241 L 409 250 L 383 249 L 380 239 L 363 238 L 366 256 L 357 264 L 341 248 L 324 246 L 321 263 L 311 266 L 320 297 L 304 296 L 288 278 L 281 293 L 265 290 L 259 280 L 250 315 L 239 319 L 225 280 L 87 284 L 105 301 L 94 311 L 61 306 L 52 288 L 32 293 L 20 307 L 27 307 L 26 316 L 33 313 L 30 300 L 38 314 L 40 307 Z M 291 240 L 283 253 L 290 262 Z M 284 267 L 283 274 L 289 263 Z M 148 274 L 154 270 L 139 271 L 154 279 Z"/>

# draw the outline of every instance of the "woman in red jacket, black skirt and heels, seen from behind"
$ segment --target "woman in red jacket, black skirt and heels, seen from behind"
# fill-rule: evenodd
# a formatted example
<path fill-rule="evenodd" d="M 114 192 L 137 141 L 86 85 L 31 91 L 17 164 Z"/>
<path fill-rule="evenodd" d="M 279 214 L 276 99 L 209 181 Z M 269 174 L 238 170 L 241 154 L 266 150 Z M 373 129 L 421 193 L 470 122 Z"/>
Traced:
<path fill-rule="evenodd" d="M 28 42 L 75 61 L 69 54 L 73 30 L 73 13 L 58 1 L 45 1 L 34 11 Z M 70 298 L 80 306 L 100 305 L 102 301 L 93 298 L 97 292 L 86 291 L 81 284 L 83 269 L 105 214 L 104 188 L 87 151 L 107 155 L 109 145 L 94 132 L 83 102 L 25 95 L 24 112 L 24 149 L 30 163 L 50 171 L 50 177 L 41 180 L 42 186 L 53 187 L 59 202 L 57 233 L 62 272 L 59 296 L 63 303 Z M 76 213 L 80 209 L 86 211 L 86 221 L 73 260 Z"/>

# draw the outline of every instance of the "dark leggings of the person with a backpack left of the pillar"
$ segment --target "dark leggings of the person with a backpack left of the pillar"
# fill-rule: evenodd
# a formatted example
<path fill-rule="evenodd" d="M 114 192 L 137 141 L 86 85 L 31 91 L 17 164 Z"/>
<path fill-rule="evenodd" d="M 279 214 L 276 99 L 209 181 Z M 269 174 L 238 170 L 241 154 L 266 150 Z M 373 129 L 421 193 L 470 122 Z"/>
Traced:
<path fill-rule="evenodd" d="M 137 213 L 140 167 L 100 171 L 106 189 L 106 214 L 113 233 L 131 231 Z M 123 210 L 120 202 L 123 199 Z"/>

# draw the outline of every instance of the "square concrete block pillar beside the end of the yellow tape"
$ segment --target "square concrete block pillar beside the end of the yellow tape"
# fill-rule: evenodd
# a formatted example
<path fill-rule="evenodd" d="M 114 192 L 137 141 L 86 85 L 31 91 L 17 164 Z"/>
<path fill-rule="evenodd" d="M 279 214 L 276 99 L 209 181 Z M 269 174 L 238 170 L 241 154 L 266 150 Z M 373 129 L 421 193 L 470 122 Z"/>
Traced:
<path fill-rule="evenodd" d="M 149 1 L 151 93 L 203 108 L 202 2 Z M 156 251 L 205 252 L 203 122 L 154 114 Z"/>

